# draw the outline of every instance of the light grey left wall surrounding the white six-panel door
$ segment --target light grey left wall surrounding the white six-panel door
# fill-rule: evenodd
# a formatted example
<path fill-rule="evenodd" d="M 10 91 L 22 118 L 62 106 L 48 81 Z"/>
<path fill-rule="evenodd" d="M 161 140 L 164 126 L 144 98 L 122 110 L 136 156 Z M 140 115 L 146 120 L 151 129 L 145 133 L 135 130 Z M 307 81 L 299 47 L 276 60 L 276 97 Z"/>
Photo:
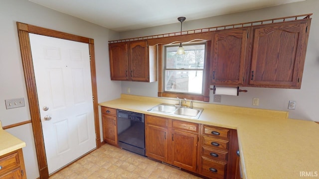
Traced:
<path fill-rule="evenodd" d="M 0 120 L 3 126 L 30 120 L 16 21 L 93 38 L 98 102 L 120 97 L 121 82 L 110 80 L 108 52 L 108 41 L 118 39 L 117 32 L 28 0 L 0 0 Z M 24 97 L 25 107 L 6 109 L 4 100 L 16 97 Z M 6 131 L 26 142 L 23 155 L 27 178 L 39 177 L 31 124 Z"/>

